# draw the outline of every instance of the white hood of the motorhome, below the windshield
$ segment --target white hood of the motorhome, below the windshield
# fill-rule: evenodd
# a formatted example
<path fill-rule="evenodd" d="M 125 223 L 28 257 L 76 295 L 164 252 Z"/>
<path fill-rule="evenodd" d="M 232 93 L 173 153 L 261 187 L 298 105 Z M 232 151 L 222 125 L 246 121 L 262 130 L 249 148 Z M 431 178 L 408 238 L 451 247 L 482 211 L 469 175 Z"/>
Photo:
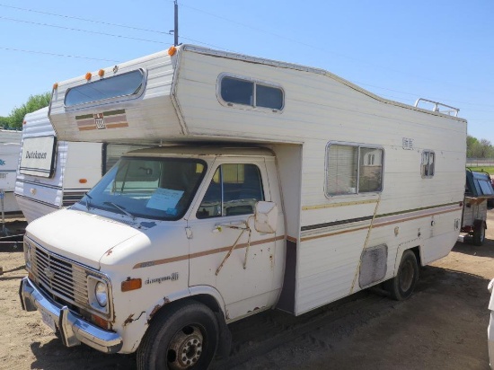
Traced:
<path fill-rule="evenodd" d="M 100 269 L 106 251 L 139 233 L 117 221 L 71 209 L 40 217 L 26 228 L 26 235 L 42 247 L 93 269 Z"/>

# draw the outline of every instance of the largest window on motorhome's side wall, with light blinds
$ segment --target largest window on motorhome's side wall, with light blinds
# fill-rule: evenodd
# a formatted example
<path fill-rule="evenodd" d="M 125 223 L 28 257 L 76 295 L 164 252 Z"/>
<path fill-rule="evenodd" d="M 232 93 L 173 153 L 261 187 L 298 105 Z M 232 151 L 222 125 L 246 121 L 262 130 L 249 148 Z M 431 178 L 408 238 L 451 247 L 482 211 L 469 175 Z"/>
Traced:
<path fill-rule="evenodd" d="M 384 150 L 361 145 L 331 144 L 326 154 L 328 196 L 383 189 Z"/>

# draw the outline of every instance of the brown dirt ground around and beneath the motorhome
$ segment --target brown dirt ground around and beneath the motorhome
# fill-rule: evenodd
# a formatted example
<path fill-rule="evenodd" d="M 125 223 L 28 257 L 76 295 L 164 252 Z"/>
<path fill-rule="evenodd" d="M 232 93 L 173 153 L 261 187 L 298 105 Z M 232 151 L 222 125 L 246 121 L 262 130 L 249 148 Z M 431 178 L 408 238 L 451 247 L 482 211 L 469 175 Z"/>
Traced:
<path fill-rule="evenodd" d="M 494 210 L 481 247 L 457 243 L 420 271 L 416 292 L 395 302 L 376 291 L 293 317 L 271 311 L 235 322 L 233 349 L 216 369 L 489 369 Z M 64 348 L 18 298 L 21 248 L 0 245 L 0 369 L 135 369 L 133 356 Z"/>

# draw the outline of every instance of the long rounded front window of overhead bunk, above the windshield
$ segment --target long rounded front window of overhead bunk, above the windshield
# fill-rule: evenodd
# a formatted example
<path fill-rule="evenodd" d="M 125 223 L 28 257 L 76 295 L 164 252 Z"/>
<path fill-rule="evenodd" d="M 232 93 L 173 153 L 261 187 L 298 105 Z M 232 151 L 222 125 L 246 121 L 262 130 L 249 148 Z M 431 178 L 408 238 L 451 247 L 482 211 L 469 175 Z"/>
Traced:
<path fill-rule="evenodd" d="M 81 84 L 66 91 L 66 107 L 112 98 L 137 97 L 143 93 L 145 74 L 141 69 Z"/>

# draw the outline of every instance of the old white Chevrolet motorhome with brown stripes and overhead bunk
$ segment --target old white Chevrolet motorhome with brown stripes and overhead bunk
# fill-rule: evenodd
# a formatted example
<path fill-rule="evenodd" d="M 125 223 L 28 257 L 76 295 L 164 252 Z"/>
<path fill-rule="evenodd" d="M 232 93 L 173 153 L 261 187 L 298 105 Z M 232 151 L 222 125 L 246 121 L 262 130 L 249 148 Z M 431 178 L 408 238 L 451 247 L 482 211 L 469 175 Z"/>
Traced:
<path fill-rule="evenodd" d="M 59 83 L 61 139 L 156 146 L 27 227 L 22 307 L 68 347 L 206 368 L 228 353 L 226 324 L 253 313 L 381 283 L 406 299 L 460 232 L 455 116 L 190 45 Z"/>

